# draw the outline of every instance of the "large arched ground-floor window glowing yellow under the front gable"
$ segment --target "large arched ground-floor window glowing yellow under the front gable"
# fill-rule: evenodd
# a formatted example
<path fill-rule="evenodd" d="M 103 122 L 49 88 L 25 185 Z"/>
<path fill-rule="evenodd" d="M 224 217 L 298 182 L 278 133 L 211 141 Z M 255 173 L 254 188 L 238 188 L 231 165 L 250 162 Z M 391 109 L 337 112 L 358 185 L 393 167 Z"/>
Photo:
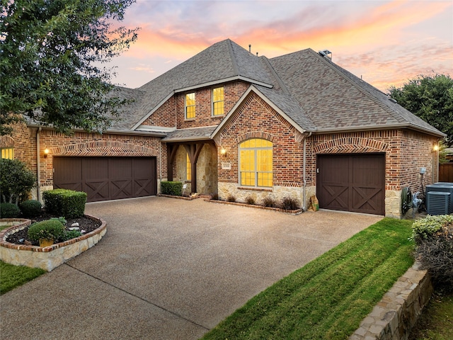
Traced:
<path fill-rule="evenodd" d="M 246 140 L 239 145 L 239 183 L 241 186 L 273 185 L 273 144 L 268 140 Z"/>

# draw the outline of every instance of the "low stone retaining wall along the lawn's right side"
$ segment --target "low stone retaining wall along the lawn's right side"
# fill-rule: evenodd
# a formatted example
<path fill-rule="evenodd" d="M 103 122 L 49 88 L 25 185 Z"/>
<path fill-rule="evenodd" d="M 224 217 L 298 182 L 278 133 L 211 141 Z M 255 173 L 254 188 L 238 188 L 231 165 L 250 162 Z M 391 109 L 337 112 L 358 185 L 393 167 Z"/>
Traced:
<path fill-rule="evenodd" d="M 415 263 L 385 293 L 349 340 L 407 339 L 432 291 L 430 275 Z"/>

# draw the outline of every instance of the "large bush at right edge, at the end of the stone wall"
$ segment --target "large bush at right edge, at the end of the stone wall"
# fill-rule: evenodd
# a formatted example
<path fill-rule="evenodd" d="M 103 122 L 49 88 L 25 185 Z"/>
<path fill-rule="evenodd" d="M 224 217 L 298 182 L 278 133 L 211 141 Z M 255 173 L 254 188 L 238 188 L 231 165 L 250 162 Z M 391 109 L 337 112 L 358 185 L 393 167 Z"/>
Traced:
<path fill-rule="evenodd" d="M 415 259 L 435 285 L 453 290 L 453 216 L 428 216 L 413 223 Z"/>

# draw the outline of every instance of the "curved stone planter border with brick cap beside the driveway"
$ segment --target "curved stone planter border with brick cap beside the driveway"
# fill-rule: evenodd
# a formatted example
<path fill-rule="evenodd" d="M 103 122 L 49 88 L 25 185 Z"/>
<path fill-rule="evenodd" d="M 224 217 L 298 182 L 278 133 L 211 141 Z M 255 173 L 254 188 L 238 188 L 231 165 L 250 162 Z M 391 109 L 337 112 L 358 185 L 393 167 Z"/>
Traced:
<path fill-rule="evenodd" d="M 31 224 L 30 220 L 25 220 L 20 225 L 1 230 L 0 232 L 0 260 L 14 266 L 28 266 L 42 268 L 45 271 L 52 271 L 65 261 L 90 249 L 98 243 L 107 232 L 107 223 L 102 218 L 85 215 L 92 220 L 100 220 L 101 227 L 88 232 L 84 235 L 69 239 L 64 242 L 52 244 L 52 246 L 26 246 L 25 244 L 14 244 L 6 242 L 6 238 L 24 229 Z"/>

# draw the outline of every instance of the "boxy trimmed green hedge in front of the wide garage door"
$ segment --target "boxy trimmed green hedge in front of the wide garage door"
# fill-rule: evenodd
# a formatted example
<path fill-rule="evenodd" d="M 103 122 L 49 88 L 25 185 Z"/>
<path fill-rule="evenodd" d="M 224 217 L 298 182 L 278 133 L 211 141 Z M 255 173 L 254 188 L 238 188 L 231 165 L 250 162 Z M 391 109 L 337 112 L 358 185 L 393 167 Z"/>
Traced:
<path fill-rule="evenodd" d="M 67 189 L 55 189 L 42 193 L 47 212 L 66 218 L 82 217 L 85 212 L 86 193 Z"/>

